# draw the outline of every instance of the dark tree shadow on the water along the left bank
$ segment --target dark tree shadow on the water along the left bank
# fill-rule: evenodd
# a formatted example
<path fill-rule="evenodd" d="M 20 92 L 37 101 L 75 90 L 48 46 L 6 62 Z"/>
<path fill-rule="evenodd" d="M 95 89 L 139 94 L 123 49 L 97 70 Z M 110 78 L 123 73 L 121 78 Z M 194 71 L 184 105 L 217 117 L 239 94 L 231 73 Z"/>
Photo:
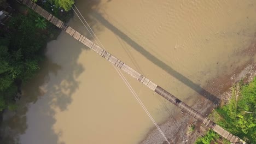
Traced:
<path fill-rule="evenodd" d="M 90 13 L 100 1 L 84 3 L 83 13 Z M 66 111 L 72 103 L 71 96 L 79 88 L 78 76 L 85 71 L 83 65 L 77 63 L 78 57 L 88 49 L 65 32 L 48 45 L 51 43 L 56 43 L 50 47 L 59 49 L 54 51 L 57 53 L 50 56 L 52 59 L 46 57 L 38 73 L 24 84 L 18 109 L 4 112 L 0 143 L 65 143 L 60 141 L 62 131 L 53 129 L 55 115 L 56 111 Z M 55 56 L 61 63 L 54 61 Z"/>

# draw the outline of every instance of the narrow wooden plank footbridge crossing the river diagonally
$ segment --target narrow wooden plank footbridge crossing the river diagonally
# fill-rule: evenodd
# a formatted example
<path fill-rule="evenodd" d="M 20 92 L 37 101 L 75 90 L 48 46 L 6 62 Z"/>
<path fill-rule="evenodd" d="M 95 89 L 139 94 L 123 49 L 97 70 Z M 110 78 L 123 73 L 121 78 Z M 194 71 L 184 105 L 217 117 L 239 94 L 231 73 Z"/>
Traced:
<path fill-rule="evenodd" d="M 143 76 L 142 74 L 139 74 L 136 70 L 129 67 L 129 65 L 126 65 L 124 62 L 120 61 L 118 58 L 111 55 L 106 50 L 102 49 L 100 46 L 93 43 L 88 38 L 84 37 L 84 35 L 80 34 L 79 32 L 75 31 L 72 27 L 69 27 L 66 23 L 62 22 L 61 20 L 57 19 L 57 17 L 51 15 L 48 13 L 48 11 L 44 10 L 43 8 L 39 7 L 36 3 L 33 3 L 31 0 L 20 0 L 23 4 L 27 5 L 27 7 L 31 8 L 32 10 L 36 11 L 39 15 L 43 16 L 46 20 L 53 23 L 55 26 L 61 28 L 63 31 L 65 31 L 67 34 L 71 35 L 74 39 L 77 39 L 87 47 L 89 47 L 91 50 L 95 51 L 100 55 L 101 57 L 107 59 L 110 63 L 114 64 L 119 69 L 125 71 L 127 74 L 131 75 L 133 78 L 138 80 L 139 82 L 146 85 L 148 88 L 152 89 L 154 92 L 158 93 L 168 101 L 170 101 L 172 104 L 178 106 L 183 111 L 187 112 L 190 116 L 194 117 L 198 121 L 201 121 L 203 124 L 205 124 L 207 127 L 213 129 L 218 133 L 219 135 L 223 136 L 225 139 L 229 140 L 232 143 L 245 143 L 239 137 L 232 135 L 219 125 L 212 122 L 207 117 L 202 116 L 199 112 L 192 109 L 187 104 L 183 103 L 178 98 L 174 97 L 171 93 L 167 92 L 165 89 L 161 88 L 160 86 L 156 85 L 154 82 L 147 79 L 147 77 Z"/>

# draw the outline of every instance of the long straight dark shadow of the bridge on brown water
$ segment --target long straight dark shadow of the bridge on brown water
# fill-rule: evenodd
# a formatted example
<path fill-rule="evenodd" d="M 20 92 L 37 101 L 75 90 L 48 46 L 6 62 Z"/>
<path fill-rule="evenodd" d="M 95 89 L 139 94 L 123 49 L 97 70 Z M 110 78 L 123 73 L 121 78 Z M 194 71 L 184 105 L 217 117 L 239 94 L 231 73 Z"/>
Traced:
<path fill-rule="evenodd" d="M 168 74 L 174 76 L 179 81 L 183 82 L 185 85 L 190 87 L 191 89 L 194 89 L 197 93 L 205 97 L 206 99 L 212 101 L 214 104 L 218 104 L 220 99 L 217 98 L 212 93 L 208 92 L 206 89 L 202 88 L 201 86 L 197 85 L 188 77 L 182 75 L 178 71 L 171 68 L 166 63 L 162 62 L 159 58 L 152 55 L 150 52 L 148 52 L 144 47 L 136 43 L 136 41 L 132 40 L 128 35 L 121 32 L 120 29 L 113 26 L 108 20 L 106 20 L 100 13 L 97 13 L 94 11 L 94 13 L 91 14 L 92 17 L 94 17 L 97 21 L 99 21 L 103 26 L 108 28 L 110 31 L 112 31 L 114 34 L 118 35 L 119 38 L 123 39 L 127 44 L 129 44 L 133 49 L 141 53 L 144 57 L 146 57 L 149 61 L 153 62 L 155 65 L 160 67 L 161 69 L 165 70 Z"/>

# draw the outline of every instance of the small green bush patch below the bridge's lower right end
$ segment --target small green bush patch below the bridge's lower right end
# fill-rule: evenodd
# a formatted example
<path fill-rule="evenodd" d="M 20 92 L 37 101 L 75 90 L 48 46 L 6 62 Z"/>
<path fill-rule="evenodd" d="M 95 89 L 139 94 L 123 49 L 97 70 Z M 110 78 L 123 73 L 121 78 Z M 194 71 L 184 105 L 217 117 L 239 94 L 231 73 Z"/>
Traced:
<path fill-rule="evenodd" d="M 209 144 L 211 141 L 214 141 L 219 138 L 219 135 L 212 130 L 207 131 L 205 136 L 200 137 L 196 140 L 196 144 Z"/>

